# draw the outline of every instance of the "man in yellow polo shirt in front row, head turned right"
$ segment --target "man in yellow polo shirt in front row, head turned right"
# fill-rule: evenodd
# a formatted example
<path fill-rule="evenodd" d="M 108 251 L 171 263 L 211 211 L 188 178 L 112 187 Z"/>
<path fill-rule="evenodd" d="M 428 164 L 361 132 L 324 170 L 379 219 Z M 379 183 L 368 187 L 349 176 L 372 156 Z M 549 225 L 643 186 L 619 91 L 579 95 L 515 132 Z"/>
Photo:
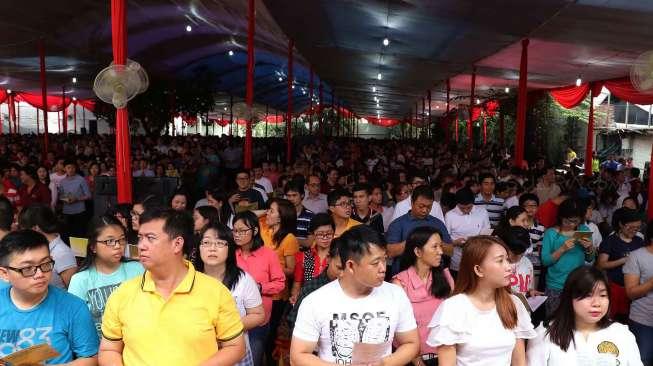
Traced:
<path fill-rule="evenodd" d="M 234 365 L 245 355 L 243 324 L 229 290 L 184 260 L 187 213 L 152 209 L 140 217 L 146 269 L 116 289 L 102 318 L 99 364 Z"/>

